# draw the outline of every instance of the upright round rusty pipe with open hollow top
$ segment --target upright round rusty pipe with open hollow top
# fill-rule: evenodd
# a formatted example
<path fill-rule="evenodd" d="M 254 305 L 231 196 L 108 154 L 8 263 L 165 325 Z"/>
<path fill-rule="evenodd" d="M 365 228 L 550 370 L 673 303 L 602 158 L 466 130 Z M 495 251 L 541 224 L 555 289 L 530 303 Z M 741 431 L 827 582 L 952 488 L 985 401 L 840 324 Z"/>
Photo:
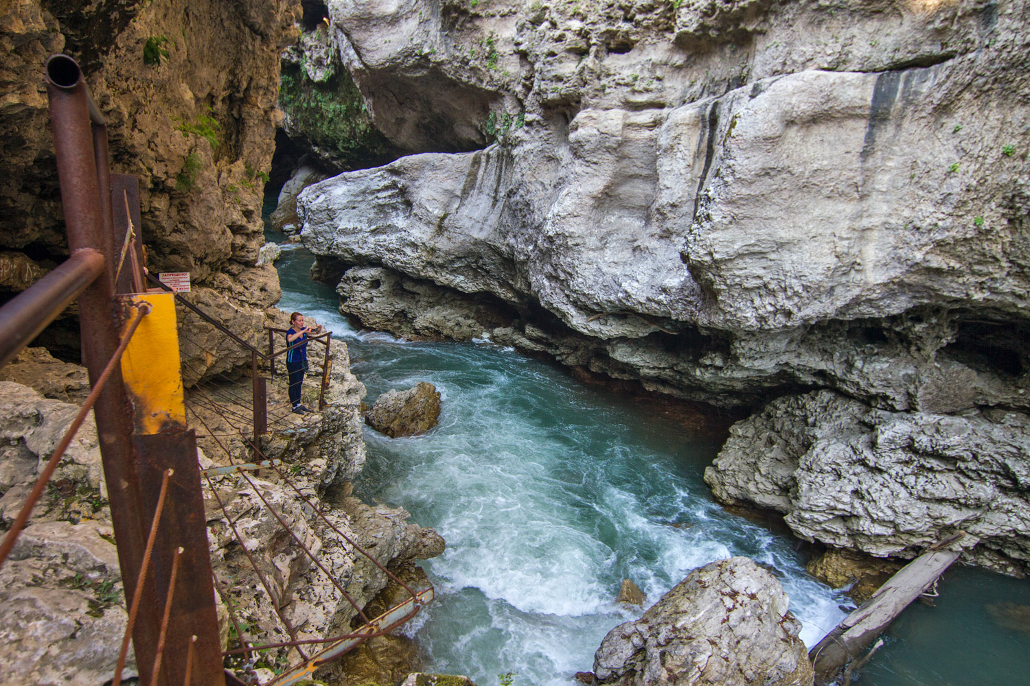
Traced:
<path fill-rule="evenodd" d="M 102 252 L 108 245 L 104 231 L 105 227 L 109 230 L 109 224 L 105 224 L 100 200 L 91 121 L 102 127 L 104 117 L 90 97 L 82 70 L 74 60 L 65 55 L 52 56 L 46 61 L 45 73 L 68 248 L 71 253 L 83 248 Z M 111 256 L 105 255 L 105 258 L 109 264 Z M 113 274 L 109 269 L 105 272 L 78 300 L 82 362 L 89 370 L 91 385 L 96 385 L 118 347 L 116 322 L 119 313 L 112 298 Z M 98 397 L 94 412 L 111 504 L 111 523 L 117 541 L 118 565 L 126 595 L 131 598 L 136 590 L 149 519 L 143 514 L 140 473 L 132 444 L 132 408 L 126 397 L 121 367 L 116 366 L 111 372 L 110 383 Z M 146 582 L 143 597 L 148 605 L 157 606 L 152 581 Z M 153 662 L 159 629 L 158 623 L 149 618 L 136 624 L 133 644 L 139 664 Z"/>

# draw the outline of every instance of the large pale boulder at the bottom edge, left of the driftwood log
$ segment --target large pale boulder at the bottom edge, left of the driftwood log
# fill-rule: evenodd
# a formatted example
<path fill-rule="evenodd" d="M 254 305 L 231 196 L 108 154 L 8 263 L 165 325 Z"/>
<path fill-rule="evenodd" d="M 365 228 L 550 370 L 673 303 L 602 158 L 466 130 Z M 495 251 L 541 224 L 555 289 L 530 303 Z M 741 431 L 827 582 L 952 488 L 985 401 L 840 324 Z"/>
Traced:
<path fill-rule="evenodd" d="M 691 572 L 594 655 L 596 684 L 811 686 L 801 624 L 776 578 L 747 557 Z"/>

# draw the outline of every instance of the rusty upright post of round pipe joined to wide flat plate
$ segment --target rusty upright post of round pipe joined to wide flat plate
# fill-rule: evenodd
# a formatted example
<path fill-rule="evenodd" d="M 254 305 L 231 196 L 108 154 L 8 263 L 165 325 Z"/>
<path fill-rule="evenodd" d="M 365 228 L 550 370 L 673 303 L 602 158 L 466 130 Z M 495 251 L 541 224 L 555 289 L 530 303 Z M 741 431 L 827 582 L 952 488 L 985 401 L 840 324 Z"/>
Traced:
<path fill-rule="evenodd" d="M 115 189 L 112 190 L 106 124 L 90 96 L 79 66 L 67 56 L 55 55 L 46 61 L 45 74 L 68 247 L 72 255 L 69 260 L 72 267 L 62 269 L 52 281 L 59 280 L 66 293 L 79 290 L 81 280 L 90 278 L 92 281 L 81 289 L 78 302 L 82 362 L 89 371 L 91 386 L 95 386 L 118 349 L 115 324 L 123 314 L 113 297 L 121 254 L 115 246 L 121 247 L 123 240 L 115 238 L 111 195 L 123 189 L 123 206 L 128 205 L 123 214 L 128 213 L 135 223 L 139 215 L 138 194 L 134 193 L 135 206 L 127 202 L 129 191 L 136 186 L 119 177 L 115 177 Z M 132 266 L 126 269 L 123 264 L 122 269 L 128 272 L 129 281 L 124 282 L 118 275 L 118 285 L 123 287 L 142 283 L 139 273 L 142 253 L 137 252 L 140 251 L 138 245 L 132 250 Z M 69 276 L 65 272 L 73 274 Z M 99 277 L 94 273 L 99 273 Z M 71 283 L 66 283 L 65 277 Z M 45 288 L 47 293 L 49 289 L 62 290 L 52 285 Z M 175 354 L 177 357 L 177 342 Z M 147 429 L 143 423 L 140 430 L 144 435 L 134 436 L 137 423 L 126 394 L 123 369 L 115 365 L 107 373 L 110 374 L 109 383 L 98 394 L 94 412 L 126 597 L 135 594 L 143 565 L 152 564 L 154 570 L 153 574 L 145 575 L 141 589 L 141 602 L 148 611 L 140 614 L 132 631 L 142 683 L 145 686 L 182 683 L 222 686 L 225 676 L 196 439 L 192 432 L 185 432 L 184 426 L 176 426 L 173 421 L 161 423 L 151 433 L 147 431 L 152 431 L 153 427 Z M 172 484 L 174 505 L 166 515 L 169 523 L 163 520 L 162 528 L 182 541 L 176 544 L 182 545 L 186 552 L 182 555 L 184 569 L 176 584 L 177 592 L 172 594 L 176 621 L 163 635 L 160 613 L 152 610 L 162 607 L 164 599 L 169 597 L 170 565 L 174 556 L 171 550 L 174 548 L 160 546 L 150 559 L 144 559 L 144 554 L 156 512 L 153 500 L 168 466 L 174 467 L 176 475 Z M 193 635 L 200 636 L 201 640 L 195 646 L 197 659 L 191 661 L 193 678 L 185 682 L 185 651 L 193 643 Z M 159 645 L 167 646 L 162 660 L 165 666 L 151 680 L 147 670 L 156 663 L 161 650 Z"/>

